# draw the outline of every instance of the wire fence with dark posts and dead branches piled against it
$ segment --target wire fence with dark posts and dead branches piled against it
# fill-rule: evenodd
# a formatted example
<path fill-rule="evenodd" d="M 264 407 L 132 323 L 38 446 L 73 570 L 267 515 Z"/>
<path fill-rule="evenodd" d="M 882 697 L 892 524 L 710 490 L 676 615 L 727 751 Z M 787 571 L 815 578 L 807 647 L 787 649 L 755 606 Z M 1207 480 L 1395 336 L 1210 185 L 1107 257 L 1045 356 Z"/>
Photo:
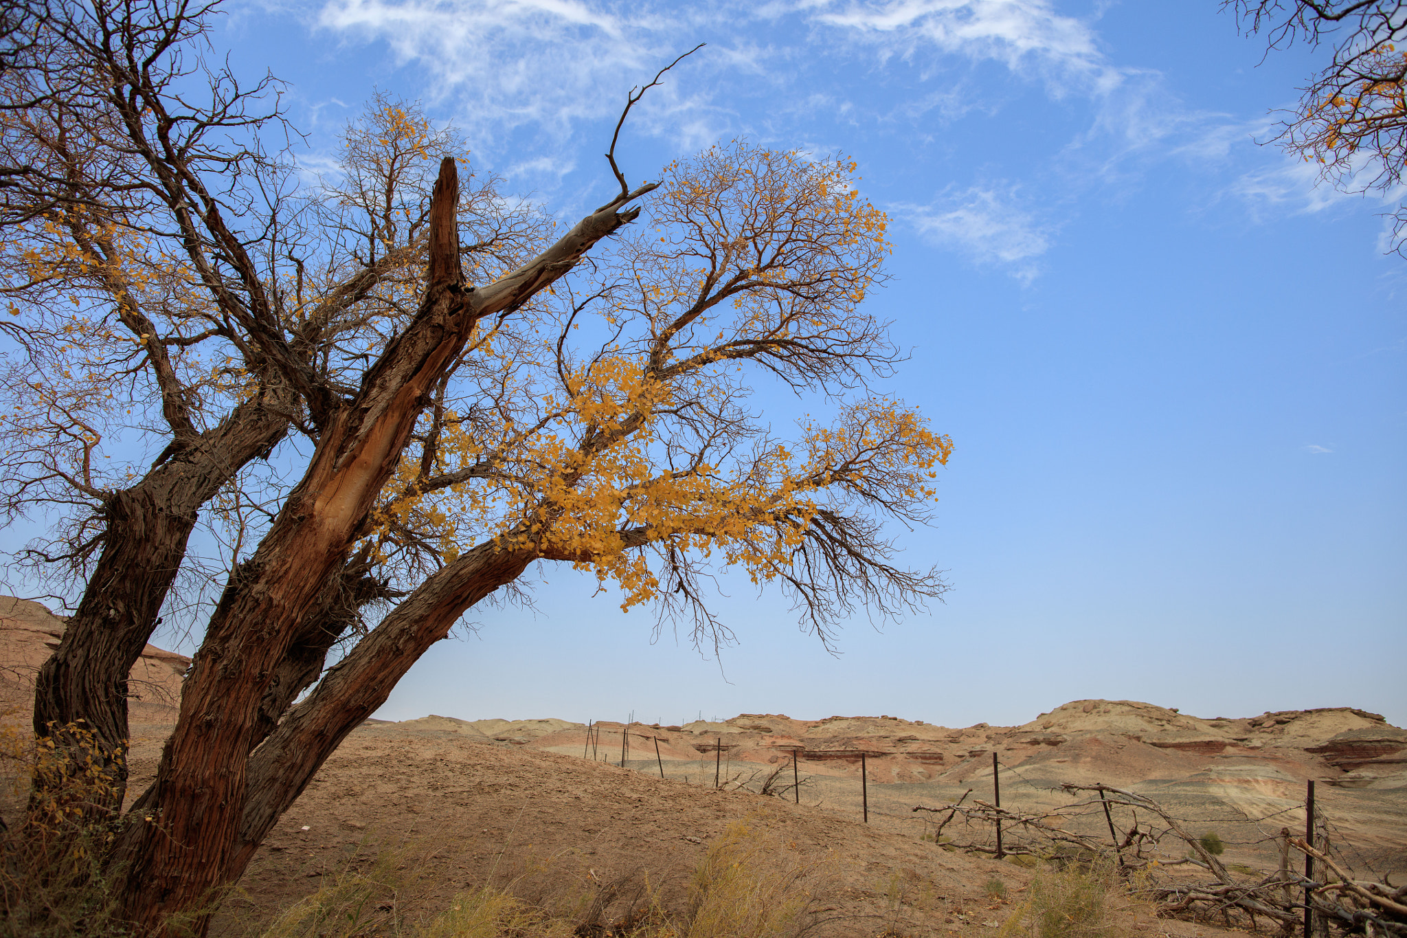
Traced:
<path fill-rule="evenodd" d="M 619 734 L 619 741 L 606 754 L 601 726 L 591 724 L 582 754 L 626 768 L 654 769 L 666 778 L 657 730 L 616 724 L 611 735 Z M 632 735 L 647 744 L 646 755 L 653 759 L 632 762 Z M 1316 803 L 1314 782 L 1307 783 L 1303 802 L 1254 811 L 1206 793 L 1164 793 L 1159 802 L 1109 785 L 1041 779 L 1005 764 L 996 752 L 972 752 L 969 758 L 991 754 L 986 778 L 968 773 L 965 792 L 947 785 L 953 795 L 946 803 L 900 807 L 895 804 L 896 790 L 937 793 L 938 783 L 885 783 L 878 786 L 884 795 L 877 799 L 868 761 L 881 752 L 822 754 L 791 747 L 788 758 L 777 764 L 746 762 L 747 768 L 739 769 L 727 757 L 734 747 L 722 735 L 695 743 L 694 748 L 701 758 L 689 762 L 696 768 L 682 773 L 689 783 L 779 795 L 796 803 L 805 790 L 810 807 L 854 811 L 855 820 L 884 825 L 920 821 L 919 837 L 936 848 L 1010 858 L 1023 865 L 1106 862 L 1126 880 L 1137 880 L 1138 890 L 1162 914 L 1251 930 L 1269 924 L 1279 934 L 1303 932 L 1306 938 L 1335 932 L 1407 938 L 1407 887 L 1389 885 L 1323 802 Z M 801 775 L 798 762 L 815 758 L 854 762 L 858 778 Z M 1268 869 L 1223 862 L 1228 848 L 1238 861 Z M 1292 856 L 1303 859 L 1303 872 L 1292 869 Z"/>

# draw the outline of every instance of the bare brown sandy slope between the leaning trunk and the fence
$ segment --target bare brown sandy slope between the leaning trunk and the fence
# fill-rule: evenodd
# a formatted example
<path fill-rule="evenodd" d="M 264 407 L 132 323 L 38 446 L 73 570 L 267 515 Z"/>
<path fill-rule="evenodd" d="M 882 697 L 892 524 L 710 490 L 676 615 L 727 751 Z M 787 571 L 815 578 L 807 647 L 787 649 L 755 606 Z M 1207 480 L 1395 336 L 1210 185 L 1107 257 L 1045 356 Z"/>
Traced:
<path fill-rule="evenodd" d="M 819 934 L 988 934 L 1030 882 L 1029 870 L 1010 863 L 806 803 L 384 724 L 355 731 L 328 761 L 260 848 L 212 934 L 250 934 L 329 873 L 366 862 L 377 845 L 418 838 L 436 851 L 425 861 L 431 887 L 415 896 L 418 908 L 443 908 L 460 889 L 507 882 L 543 859 L 578 880 L 647 873 L 666 903 L 680 906 L 705 844 L 737 818 L 774 831 L 801 862 L 833 870 L 820 907 L 829 924 Z M 993 878 L 1007 900 L 986 896 Z M 1130 917 L 1138 934 L 1223 934 Z"/>

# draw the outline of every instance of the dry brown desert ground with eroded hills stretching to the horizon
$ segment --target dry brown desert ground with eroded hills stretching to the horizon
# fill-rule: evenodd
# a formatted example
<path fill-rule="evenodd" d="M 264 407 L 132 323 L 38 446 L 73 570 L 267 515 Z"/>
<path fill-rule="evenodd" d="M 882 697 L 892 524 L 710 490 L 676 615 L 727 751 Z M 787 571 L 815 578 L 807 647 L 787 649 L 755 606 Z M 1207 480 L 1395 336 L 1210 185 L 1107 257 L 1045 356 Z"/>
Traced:
<path fill-rule="evenodd" d="M 0 599 L 0 705 L 10 720 L 24 719 L 32 674 L 62 630 L 44 606 Z M 187 665 L 148 645 L 134 667 L 132 796 L 155 771 Z M 398 903 L 411 917 L 490 882 L 599 890 L 647 879 L 664 901 L 678 901 L 706 844 L 739 820 L 767 831 L 779 862 L 816 870 L 817 934 L 985 934 L 1010 914 L 1031 870 L 958 849 L 993 841 L 961 817 L 936 844 L 943 814 L 913 809 L 964 795 L 992 800 L 993 752 L 1003 807 L 1054 811 L 1074 800 L 1059 788 L 1067 782 L 1135 790 L 1196 834 L 1217 833 L 1223 861 L 1254 870 L 1275 868 L 1282 827 L 1303 831 L 1304 786 L 1316 779 L 1324 835 L 1338 854 L 1394 882 L 1407 876 L 1407 731 L 1352 707 L 1200 719 L 1130 700 L 1075 700 L 1019 727 L 965 728 L 888 714 L 591 727 L 426 716 L 371 720 L 352 733 L 263 844 L 212 934 L 259 934 L 388 848 L 401 851 L 416 885 L 386 907 Z M 789 788 L 794 771 L 799 790 Z M 1097 833 L 1104 818 L 1083 823 Z M 1020 842 L 1007 838 L 1007 848 Z M 1166 862 L 1186 855 L 1162 847 Z M 993 879 L 1005 899 L 991 894 Z M 1123 914 L 1137 934 L 1224 931 L 1157 920 L 1138 906 Z"/>

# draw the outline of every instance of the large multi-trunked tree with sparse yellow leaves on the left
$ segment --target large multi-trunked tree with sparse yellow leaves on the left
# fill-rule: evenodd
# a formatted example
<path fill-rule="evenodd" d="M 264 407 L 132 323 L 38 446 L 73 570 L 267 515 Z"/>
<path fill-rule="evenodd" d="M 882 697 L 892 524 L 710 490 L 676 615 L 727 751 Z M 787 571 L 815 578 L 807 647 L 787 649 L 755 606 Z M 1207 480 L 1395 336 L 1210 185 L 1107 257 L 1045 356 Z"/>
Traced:
<path fill-rule="evenodd" d="M 864 308 L 889 246 L 853 162 L 734 141 L 632 188 L 612 141 L 619 193 L 557 231 L 497 180 L 461 186 L 463 142 L 380 97 L 303 186 L 266 146 L 290 136 L 277 82 L 200 55 L 214 10 L 56 1 L 0 75 L 25 388 L 0 484 L 10 516 L 62 518 L 25 554 L 77 595 L 34 727 L 73 758 L 98 740 L 96 820 L 121 811 L 125 675 L 190 537 L 227 546 L 113 841 L 128 921 L 159 932 L 238 879 L 340 740 L 533 564 L 698 643 L 729 637 L 711 568 L 781 588 L 823 641 L 857 603 L 941 593 L 885 539 L 927 518 L 951 443 L 868 385 L 899 356 Z M 747 406 L 764 377 L 833 419 L 774 436 Z"/>

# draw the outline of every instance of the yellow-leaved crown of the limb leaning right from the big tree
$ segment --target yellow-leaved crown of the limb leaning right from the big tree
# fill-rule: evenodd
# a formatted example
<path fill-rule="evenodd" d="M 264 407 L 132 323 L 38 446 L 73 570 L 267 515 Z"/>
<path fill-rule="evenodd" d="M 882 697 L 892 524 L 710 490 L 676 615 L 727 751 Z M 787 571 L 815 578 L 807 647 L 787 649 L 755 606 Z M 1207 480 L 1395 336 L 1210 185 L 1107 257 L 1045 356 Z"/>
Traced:
<path fill-rule="evenodd" d="M 416 541 L 452 563 L 498 539 L 592 570 L 629 609 L 663 598 L 640 548 L 761 584 L 813 548 L 817 518 L 922 519 L 953 443 L 862 387 L 888 354 L 860 305 L 889 245 L 854 170 L 740 142 L 671 163 L 594 297 L 478 336 L 483 404 L 422 420 L 433 449 L 408 451 L 387 487 L 378 557 Z M 743 409 L 741 367 L 860 392 L 777 440 Z"/>

